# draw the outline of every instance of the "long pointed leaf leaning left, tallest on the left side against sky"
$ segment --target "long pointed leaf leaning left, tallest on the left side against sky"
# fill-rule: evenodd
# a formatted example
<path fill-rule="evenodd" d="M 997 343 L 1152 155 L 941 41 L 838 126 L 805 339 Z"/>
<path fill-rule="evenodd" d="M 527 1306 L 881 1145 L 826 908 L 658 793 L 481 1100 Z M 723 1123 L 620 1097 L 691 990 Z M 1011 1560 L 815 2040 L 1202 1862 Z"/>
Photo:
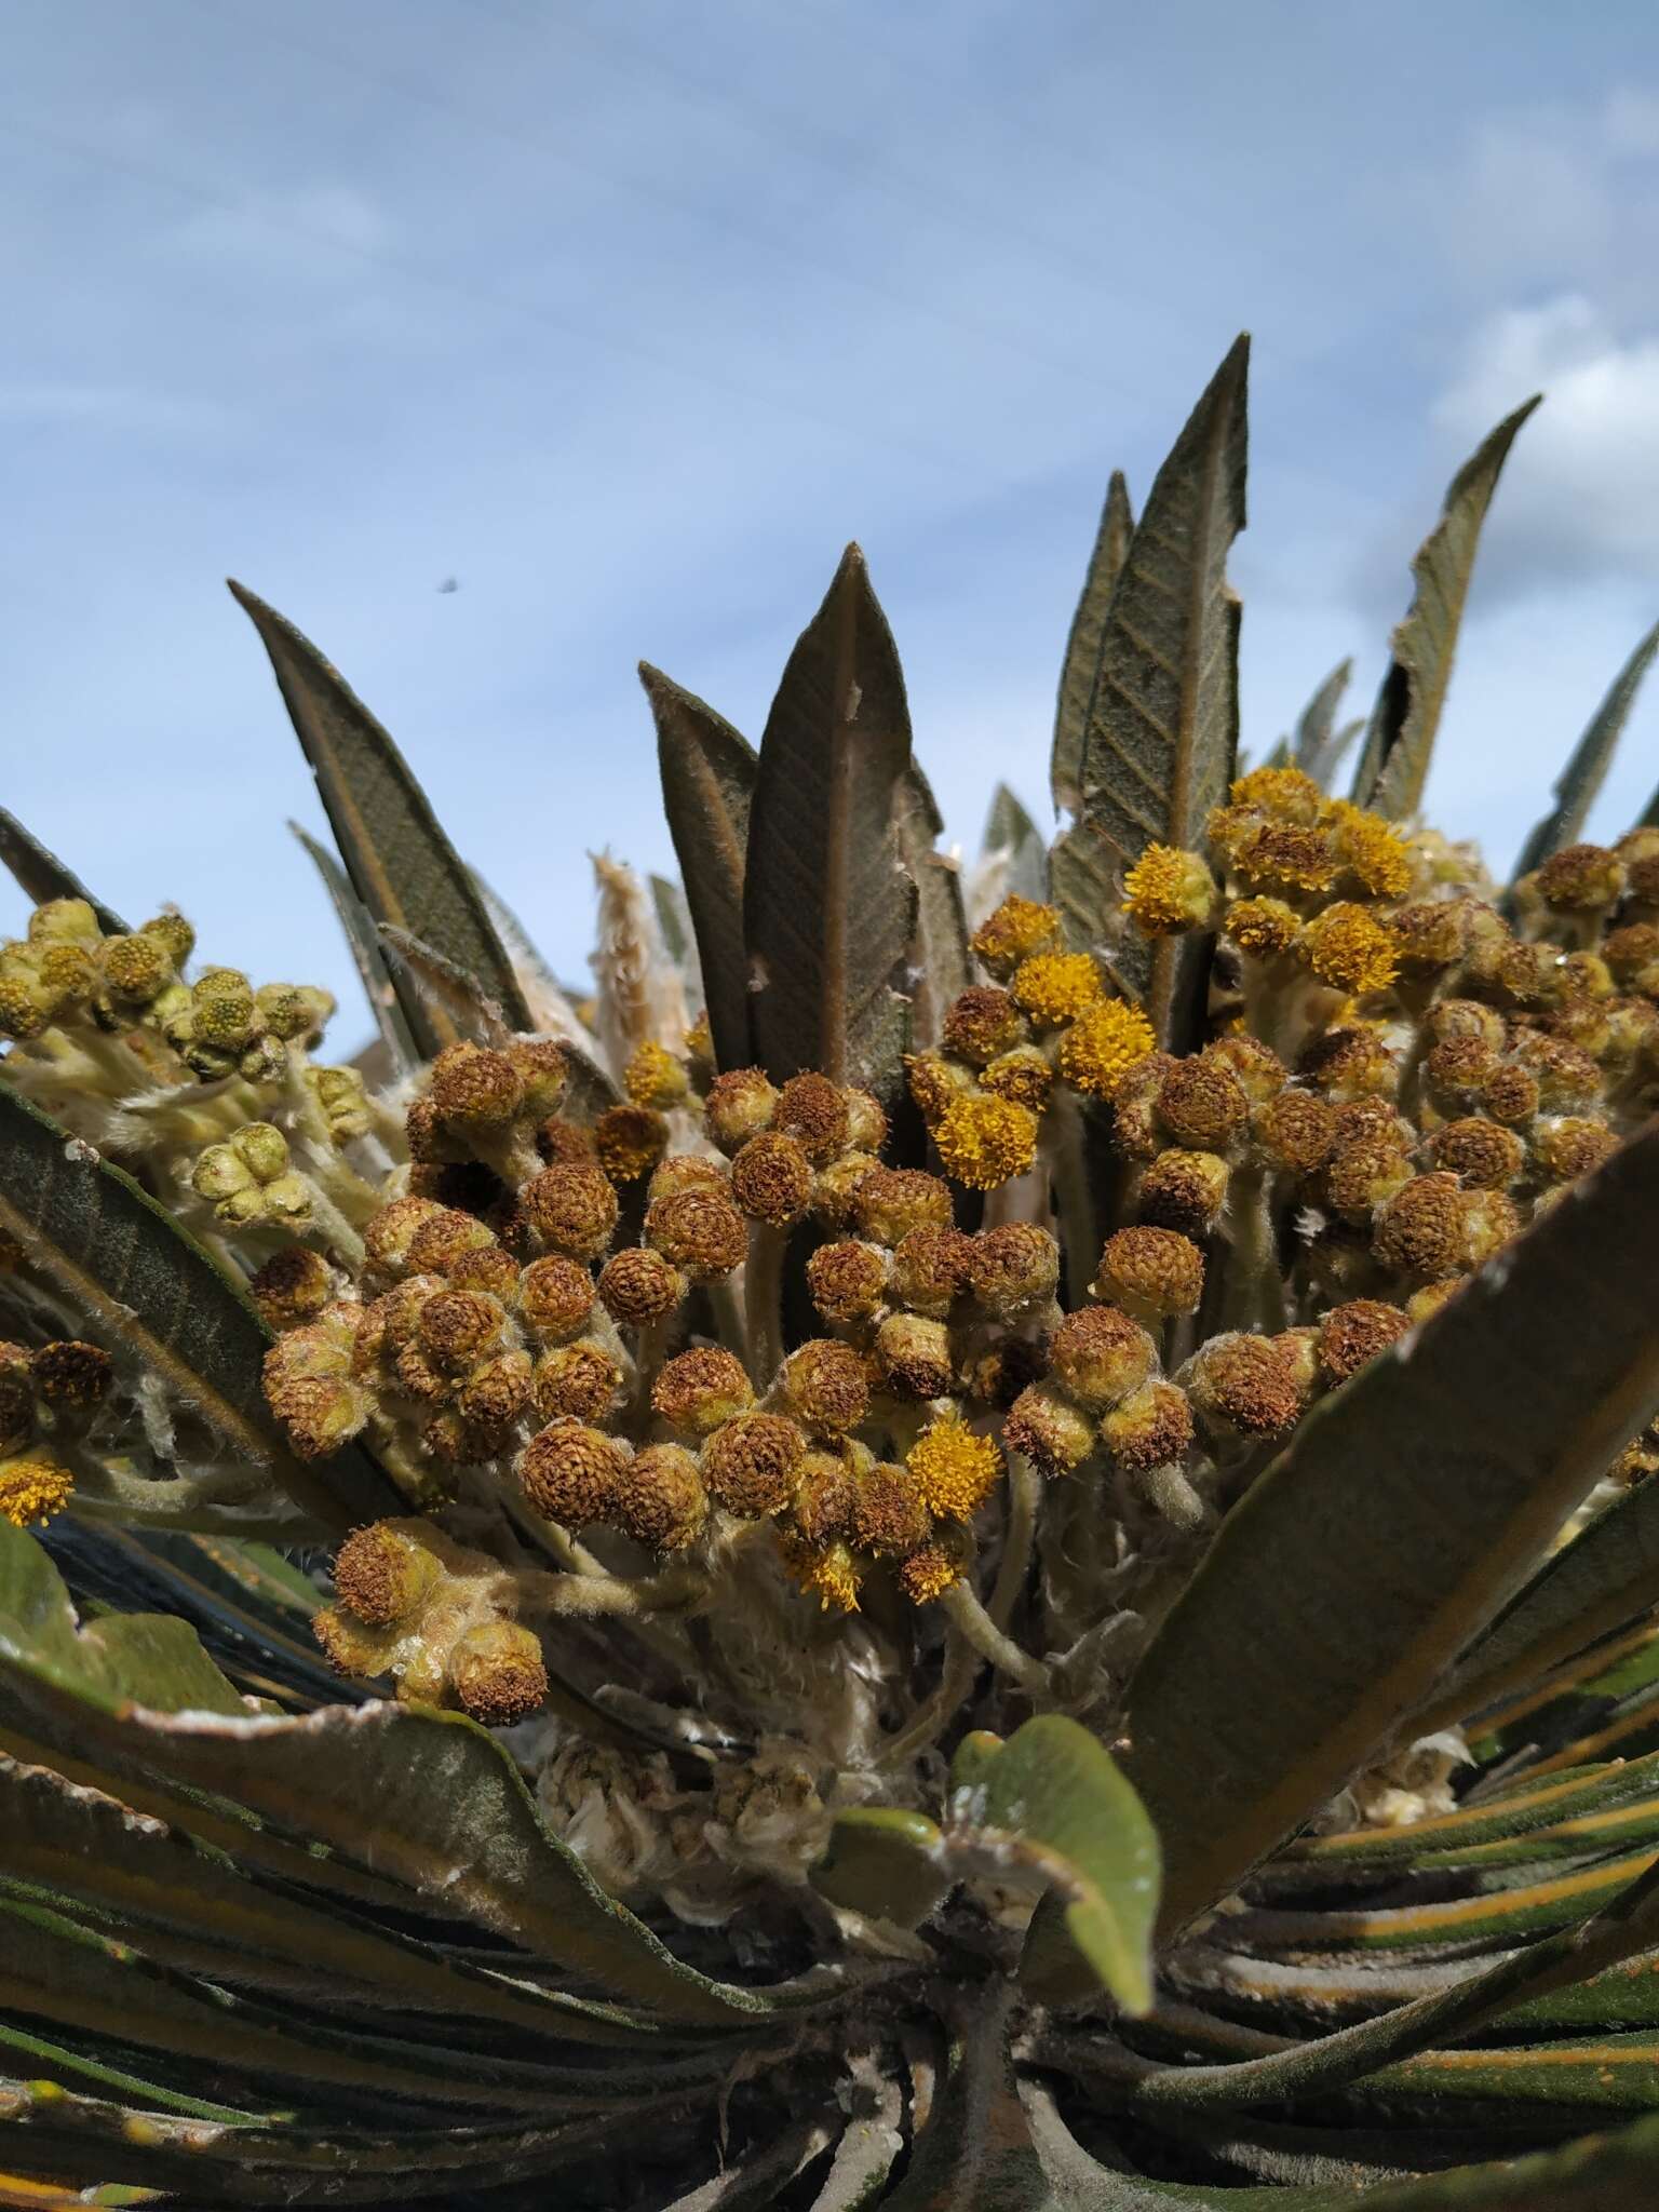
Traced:
<path fill-rule="evenodd" d="M 529 1029 L 513 964 L 409 763 L 292 622 L 241 584 L 232 582 L 230 591 L 270 655 L 356 896 L 376 922 L 409 931 L 471 975 L 511 1029 Z M 425 1055 L 465 1035 L 449 1009 L 409 989 L 405 978 L 394 975 L 394 982 Z"/>

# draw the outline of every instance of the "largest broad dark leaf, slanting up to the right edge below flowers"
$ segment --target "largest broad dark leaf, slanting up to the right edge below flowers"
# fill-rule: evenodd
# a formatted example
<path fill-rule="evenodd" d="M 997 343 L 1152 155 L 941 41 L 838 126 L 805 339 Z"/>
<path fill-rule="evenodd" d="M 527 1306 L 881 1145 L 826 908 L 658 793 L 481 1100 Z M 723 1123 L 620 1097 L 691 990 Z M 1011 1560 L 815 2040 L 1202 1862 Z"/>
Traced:
<path fill-rule="evenodd" d="M 1659 1402 L 1659 1128 L 1318 1405 L 1128 1686 L 1181 1927 L 1429 1694 Z"/>

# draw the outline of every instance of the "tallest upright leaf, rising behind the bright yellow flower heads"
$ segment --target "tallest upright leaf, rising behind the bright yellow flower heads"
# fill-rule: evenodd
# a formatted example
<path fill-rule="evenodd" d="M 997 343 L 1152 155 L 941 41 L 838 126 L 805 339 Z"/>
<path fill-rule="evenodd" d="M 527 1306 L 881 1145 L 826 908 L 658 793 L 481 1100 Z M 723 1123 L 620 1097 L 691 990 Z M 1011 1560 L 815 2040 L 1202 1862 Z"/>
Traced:
<path fill-rule="evenodd" d="M 1146 845 L 1203 843 L 1232 779 L 1239 602 L 1228 549 L 1245 524 L 1248 367 L 1250 341 L 1239 338 L 1157 473 L 1106 611 L 1071 838 L 1088 832 L 1088 860 L 1117 876 Z M 1126 982 L 1177 1051 L 1208 967 L 1208 938 L 1130 936 L 1119 947 Z"/>

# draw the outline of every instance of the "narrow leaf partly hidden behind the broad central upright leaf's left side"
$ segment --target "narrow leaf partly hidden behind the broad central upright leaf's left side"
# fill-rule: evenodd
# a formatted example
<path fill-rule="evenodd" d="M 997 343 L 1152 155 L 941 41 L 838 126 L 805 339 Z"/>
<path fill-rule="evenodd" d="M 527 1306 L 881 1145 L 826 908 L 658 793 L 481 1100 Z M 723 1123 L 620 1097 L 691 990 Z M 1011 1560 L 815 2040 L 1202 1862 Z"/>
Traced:
<path fill-rule="evenodd" d="M 657 719 L 664 812 L 697 933 L 714 1060 L 721 1068 L 741 1068 L 750 1057 L 743 856 L 754 748 L 650 661 L 639 664 L 639 681 Z"/>

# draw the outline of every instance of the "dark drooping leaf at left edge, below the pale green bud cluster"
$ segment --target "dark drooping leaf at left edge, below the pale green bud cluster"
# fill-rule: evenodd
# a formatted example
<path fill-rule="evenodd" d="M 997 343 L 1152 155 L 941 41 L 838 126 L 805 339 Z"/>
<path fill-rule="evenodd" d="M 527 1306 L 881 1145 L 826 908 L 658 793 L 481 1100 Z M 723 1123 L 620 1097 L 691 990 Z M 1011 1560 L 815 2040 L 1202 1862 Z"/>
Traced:
<path fill-rule="evenodd" d="M 356 1447 L 334 1453 L 325 1473 L 292 1455 L 261 1391 L 272 1334 L 246 1292 L 131 1175 L 4 1084 L 0 1228 L 100 1343 L 188 1400 L 237 1458 L 268 1467 L 321 1528 L 396 1511 L 389 1484 Z"/>

